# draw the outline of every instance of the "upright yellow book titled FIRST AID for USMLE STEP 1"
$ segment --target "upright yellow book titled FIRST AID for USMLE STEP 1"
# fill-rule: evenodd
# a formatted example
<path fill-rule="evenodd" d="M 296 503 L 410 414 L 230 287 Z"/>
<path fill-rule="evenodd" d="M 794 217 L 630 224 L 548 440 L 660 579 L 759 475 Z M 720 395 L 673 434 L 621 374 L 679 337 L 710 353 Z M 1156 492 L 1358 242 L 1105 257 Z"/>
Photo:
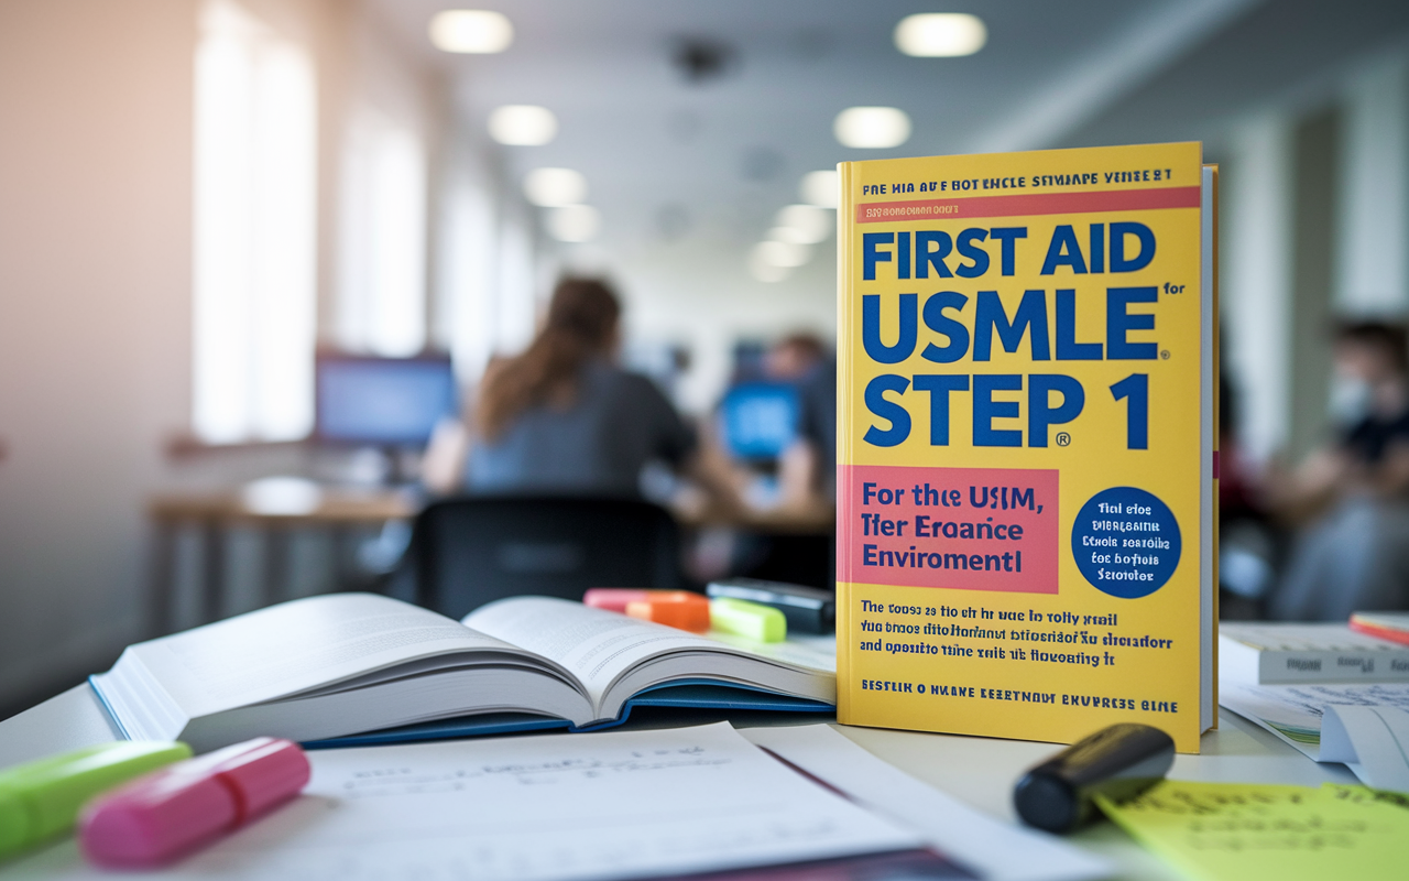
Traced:
<path fill-rule="evenodd" d="M 1216 725 L 1217 169 L 1199 144 L 844 162 L 847 725 L 1184 753 Z"/>

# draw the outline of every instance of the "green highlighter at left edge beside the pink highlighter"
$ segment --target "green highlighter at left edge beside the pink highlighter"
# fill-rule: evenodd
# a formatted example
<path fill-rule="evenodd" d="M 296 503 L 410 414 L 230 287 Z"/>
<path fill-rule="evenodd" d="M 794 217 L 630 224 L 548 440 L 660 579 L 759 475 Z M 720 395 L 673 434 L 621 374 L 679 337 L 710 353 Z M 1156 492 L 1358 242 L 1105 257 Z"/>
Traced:
<path fill-rule="evenodd" d="M 0 858 L 68 832 L 90 798 L 190 758 L 169 740 L 120 740 L 0 771 Z"/>

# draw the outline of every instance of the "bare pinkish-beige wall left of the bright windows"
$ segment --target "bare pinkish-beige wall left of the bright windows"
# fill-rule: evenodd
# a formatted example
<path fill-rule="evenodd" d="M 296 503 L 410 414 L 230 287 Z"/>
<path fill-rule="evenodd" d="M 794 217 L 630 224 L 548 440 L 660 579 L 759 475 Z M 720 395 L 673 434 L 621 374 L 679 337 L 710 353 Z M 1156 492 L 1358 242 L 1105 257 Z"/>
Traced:
<path fill-rule="evenodd" d="M 189 0 L 0 1 L 0 699 L 139 634 L 189 419 Z"/>

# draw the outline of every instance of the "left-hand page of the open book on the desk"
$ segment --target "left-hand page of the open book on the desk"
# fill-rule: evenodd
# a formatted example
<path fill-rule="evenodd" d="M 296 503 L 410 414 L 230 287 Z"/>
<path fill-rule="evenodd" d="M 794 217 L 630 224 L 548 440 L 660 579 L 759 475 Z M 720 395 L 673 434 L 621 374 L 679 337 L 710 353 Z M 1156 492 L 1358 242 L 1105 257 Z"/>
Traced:
<path fill-rule="evenodd" d="M 106 675 L 139 661 L 148 674 L 141 679 L 158 682 L 193 717 L 457 653 L 526 655 L 417 606 L 333 593 L 138 643 Z"/>

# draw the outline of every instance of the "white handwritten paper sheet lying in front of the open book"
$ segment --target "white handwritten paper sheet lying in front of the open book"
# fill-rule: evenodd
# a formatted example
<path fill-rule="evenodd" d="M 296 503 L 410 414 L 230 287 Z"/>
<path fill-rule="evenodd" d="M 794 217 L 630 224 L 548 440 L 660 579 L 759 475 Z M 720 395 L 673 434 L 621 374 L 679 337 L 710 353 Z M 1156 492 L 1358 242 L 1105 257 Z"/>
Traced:
<path fill-rule="evenodd" d="M 659 878 L 919 846 L 724 723 L 317 750 L 309 761 L 313 780 L 289 806 L 161 875 L 124 878 Z M 7 868 L 113 877 L 86 868 L 72 842 Z"/>

